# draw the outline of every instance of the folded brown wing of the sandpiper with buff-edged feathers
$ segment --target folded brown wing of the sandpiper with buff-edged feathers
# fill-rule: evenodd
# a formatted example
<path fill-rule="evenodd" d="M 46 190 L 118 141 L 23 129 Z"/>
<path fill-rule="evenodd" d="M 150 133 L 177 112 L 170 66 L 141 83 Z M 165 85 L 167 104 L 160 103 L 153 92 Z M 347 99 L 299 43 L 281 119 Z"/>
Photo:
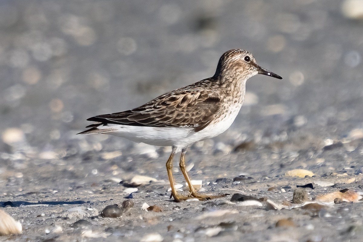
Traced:
<path fill-rule="evenodd" d="M 94 116 L 87 120 L 100 124 L 123 124 L 154 127 L 191 127 L 195 132 L 203 130 L 220 108 L 220 98 L 210 90 L 188 86 L 164 94 L 138 108 Z"/>

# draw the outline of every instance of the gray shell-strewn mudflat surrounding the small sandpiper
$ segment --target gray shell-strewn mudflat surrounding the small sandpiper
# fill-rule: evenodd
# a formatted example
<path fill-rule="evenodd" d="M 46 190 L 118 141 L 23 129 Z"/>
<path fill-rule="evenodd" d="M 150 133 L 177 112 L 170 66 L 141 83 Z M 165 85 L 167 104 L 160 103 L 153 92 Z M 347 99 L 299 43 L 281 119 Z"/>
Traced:
<path fill-rule="evenodd" d="M 361 241 L 362 203 L 288 201 L 310 183 L 305 199 L 363 191 L 363 22 L 354 17 L 362 8 L 327 0 L 0 3 L 0 205 L 23 226 L 0 240 Z M 212 76 L 233 48 L 284 79 L 251 78 L 232 127 L 187 151 L 202 192 L 231 195 L 176 203 L 169 147 L 76 135 L 91 116 Z M 294 169 L 314 176 L 285 175 Z M 152 181 L 132 184 L 135 176 Z M 265 199 L 245 206 L 231 201 L 235 193 Z M 134 204 L 121 217 L 99 216 L 127 198 Z"/>

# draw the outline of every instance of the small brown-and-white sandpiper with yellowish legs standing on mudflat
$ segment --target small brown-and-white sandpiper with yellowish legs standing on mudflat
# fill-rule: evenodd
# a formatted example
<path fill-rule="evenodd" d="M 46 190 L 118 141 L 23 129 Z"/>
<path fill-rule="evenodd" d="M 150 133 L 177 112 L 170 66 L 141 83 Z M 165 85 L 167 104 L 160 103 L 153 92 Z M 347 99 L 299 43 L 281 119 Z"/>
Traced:
<path fill-rule="evenodd" d="M 185 153 L 196 141 L 215 137 L 233 123 L 245 99 L 246 81 L 257 74 L 282 79 L 257 65 L 252 54 L 234 49 L 219 59 L 211 78 L 181 87 L 131 110 L 94 116 L 96 123 L 79 134 L 110 134 L 135 142 L 171 146 L 166 168 L 175 201 L 197 198 L 207 200 L 225 195 L 199 194 L 185 169 Z M 173 157 L 181 151 L 179 166 L 189 185 L 188 196 L 177 193 L 172 174 Z"/>

